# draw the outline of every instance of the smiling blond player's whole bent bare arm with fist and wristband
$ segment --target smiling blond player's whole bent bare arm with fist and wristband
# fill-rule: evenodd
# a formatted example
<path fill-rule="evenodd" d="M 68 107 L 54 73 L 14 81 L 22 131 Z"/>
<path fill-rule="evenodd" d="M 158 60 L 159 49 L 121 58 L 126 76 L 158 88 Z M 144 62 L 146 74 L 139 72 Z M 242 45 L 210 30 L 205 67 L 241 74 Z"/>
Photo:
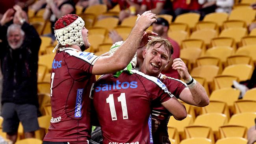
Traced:
<path fill-rule="evenodd" d="M 173 69 L 178 70 L 180 77 L 185 80 L 186 83 L 192 82 L 192 78 L 187 71 L 187 66 L 182 61 L 182 59 L 177 58 L 173 60 Z M 204 87 L 193 79 L 193 82 L 188 85 L 180 93 L 180 100 L 186 102 L 190 105 L 195 105 L 198 107 L 204 107 L 209 104 L 209 97 L 206 94 Z"/>

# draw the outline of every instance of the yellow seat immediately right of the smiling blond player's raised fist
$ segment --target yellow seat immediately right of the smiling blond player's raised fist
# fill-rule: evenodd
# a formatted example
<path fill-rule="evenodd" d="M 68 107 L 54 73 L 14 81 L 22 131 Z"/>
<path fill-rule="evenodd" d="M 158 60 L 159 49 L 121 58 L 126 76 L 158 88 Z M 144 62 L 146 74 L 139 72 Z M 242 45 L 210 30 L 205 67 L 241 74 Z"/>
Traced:
<path fill-rule="evenodd" d="M 219 74 L 219 66 L 214 65 L 197 66 L 191 71 L 191 75 L 201 76 L 205 78 L 208 83 L 211 83 L 217 74 Z"/>

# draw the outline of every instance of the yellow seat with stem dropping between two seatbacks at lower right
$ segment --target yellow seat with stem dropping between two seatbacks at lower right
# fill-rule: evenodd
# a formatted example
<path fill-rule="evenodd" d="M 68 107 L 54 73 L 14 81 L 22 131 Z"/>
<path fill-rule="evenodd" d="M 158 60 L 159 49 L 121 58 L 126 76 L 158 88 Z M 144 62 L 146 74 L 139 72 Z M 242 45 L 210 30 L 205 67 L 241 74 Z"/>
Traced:
<path fill-rule="evenodd" d="M 216 138 L 218 138 L 219 127 L 227 124 L 228 118 L 222 113 L 206 113 L 197 116 L 193 126 L 211 127 Z"/>

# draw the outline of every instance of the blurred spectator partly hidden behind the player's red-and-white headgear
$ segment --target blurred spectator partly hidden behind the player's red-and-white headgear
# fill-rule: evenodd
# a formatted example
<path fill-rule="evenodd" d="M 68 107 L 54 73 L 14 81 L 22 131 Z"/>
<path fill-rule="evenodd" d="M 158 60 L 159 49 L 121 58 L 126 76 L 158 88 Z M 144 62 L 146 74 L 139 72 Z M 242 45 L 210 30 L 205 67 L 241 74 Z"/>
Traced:
<path fill-rule="evenodd" d="M 46 35 L 55 41 L 54 24 L 58 18 L 67 14 L 76 14 L 76 7 L 73 0 L 46 0 L 46 9 L 43 15 L 44 20 L 50 20 L 52 33 Z"/>

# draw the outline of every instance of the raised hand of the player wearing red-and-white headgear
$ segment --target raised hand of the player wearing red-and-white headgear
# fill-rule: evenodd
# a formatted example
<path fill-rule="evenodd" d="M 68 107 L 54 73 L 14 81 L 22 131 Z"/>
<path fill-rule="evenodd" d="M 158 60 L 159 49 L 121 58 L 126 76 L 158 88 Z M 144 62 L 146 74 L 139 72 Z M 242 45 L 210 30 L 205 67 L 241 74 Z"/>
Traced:
<path fill-rule="evenodd" d="M 151 11 L 145 11 L 141 15 L 137 15 L 138 18 L 135 22 L 135 27 L 143 28 L 143 30 L 147 30 L 147 28 L 153 23 L 157 22 L 156 14 L 151 13 Z"/>

